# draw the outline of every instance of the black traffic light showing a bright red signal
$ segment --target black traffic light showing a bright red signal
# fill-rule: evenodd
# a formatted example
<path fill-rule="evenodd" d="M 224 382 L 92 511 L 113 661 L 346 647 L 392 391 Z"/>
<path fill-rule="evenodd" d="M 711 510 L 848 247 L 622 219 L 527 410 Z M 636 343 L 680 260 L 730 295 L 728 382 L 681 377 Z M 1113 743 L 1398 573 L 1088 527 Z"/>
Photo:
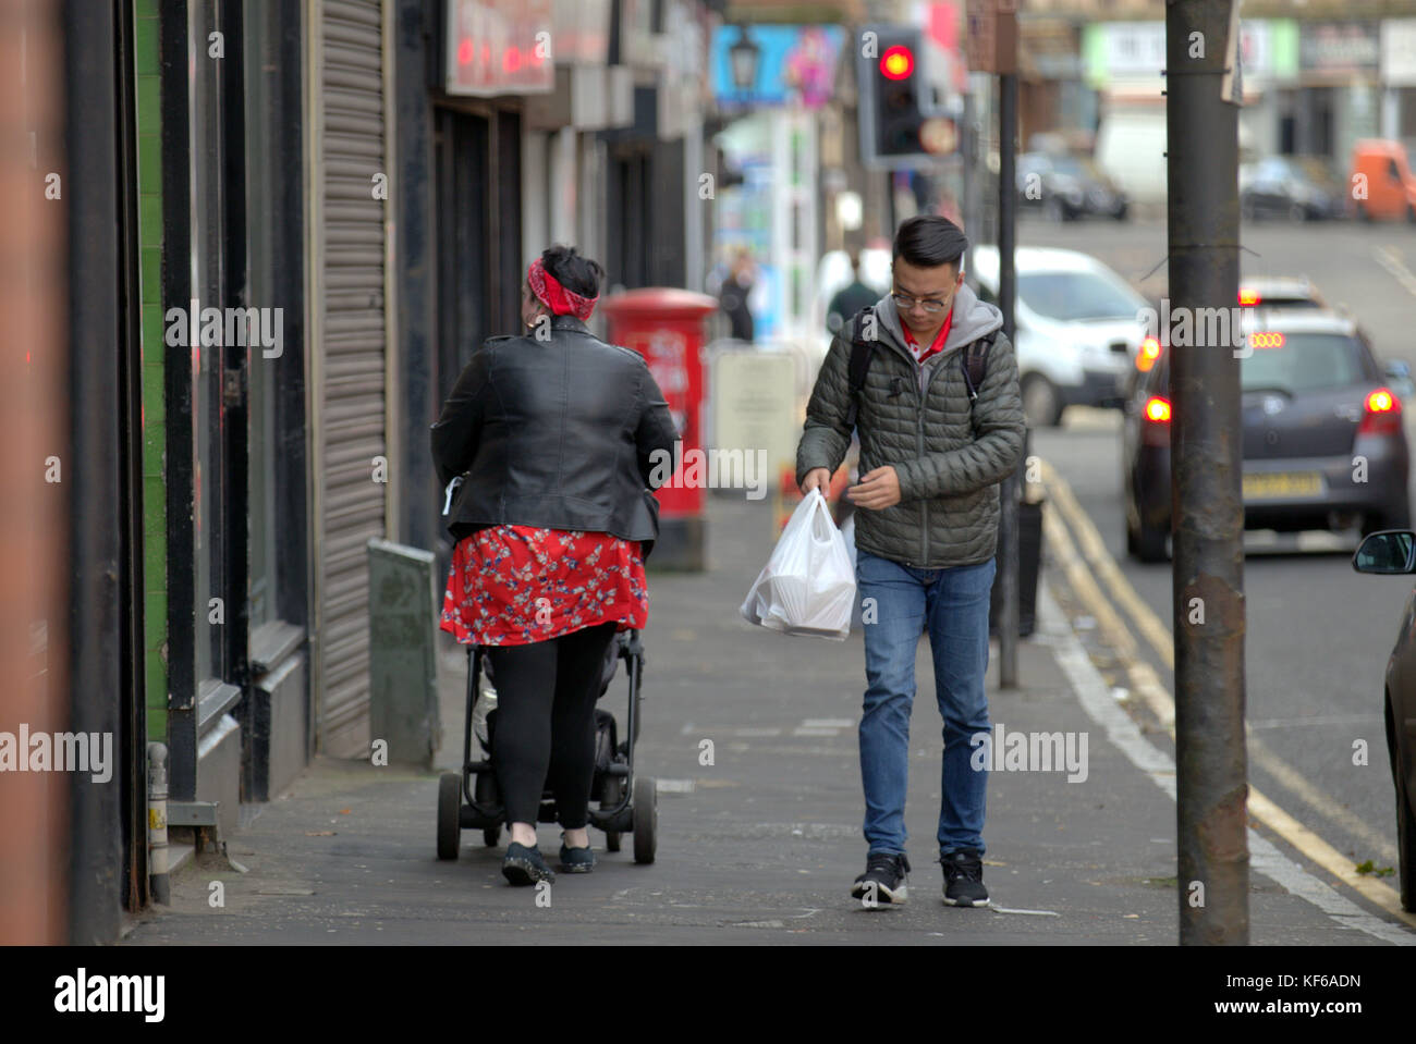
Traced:
<path fill-rule="evenodd" d="M 919 68 L 923 35 L 908 25 L 872 25 L 857 38 L 861 158 L 872 167 L 905 167 L 929 160 L 920 141 Z"/>

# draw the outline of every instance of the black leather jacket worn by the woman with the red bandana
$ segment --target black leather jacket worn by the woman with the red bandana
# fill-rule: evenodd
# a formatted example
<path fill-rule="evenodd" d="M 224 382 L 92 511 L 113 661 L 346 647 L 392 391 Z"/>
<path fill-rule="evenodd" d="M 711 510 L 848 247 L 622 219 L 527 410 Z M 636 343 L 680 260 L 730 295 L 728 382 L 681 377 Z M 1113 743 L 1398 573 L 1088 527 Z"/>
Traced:
<path fill-rule="evenodd" d="M 641 540 L 647 557 L 658 536 L 651 454 L 671 454 L 677 437 L 644 359 L 573 315 L 554 315 L 548 341 L 493 337 L 432 426 L 439 482 L 466 475 L 447 530 L 457 540 L 494 525 L 605 532 Z"/>

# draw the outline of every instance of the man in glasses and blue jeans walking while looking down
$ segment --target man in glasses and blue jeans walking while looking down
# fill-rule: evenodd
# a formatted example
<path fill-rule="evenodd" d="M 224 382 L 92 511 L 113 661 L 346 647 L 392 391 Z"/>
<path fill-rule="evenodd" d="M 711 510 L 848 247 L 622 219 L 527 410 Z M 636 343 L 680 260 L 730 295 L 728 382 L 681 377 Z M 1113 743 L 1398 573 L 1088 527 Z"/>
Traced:
<path fill-rule="evenodd" d="M 988 904 L 988 777 L 970 765 L 970 738 L 990 729 L 984 672 L 998 482 L 1018 467 L 1024 414 L 1003 314 L 963 283 L 967 245 L 959 226 L 937 215 L 899 226 L 891 293 L 833 340 L 797 447 L 797 484 L 826 492 L 852 419 L 861 440 L 861 480 L 847 494 L 861 508 L 857 587 L 868 688 L 860 741 L 869 849 L 851 895 L 867 905 L 908 898 L 909 713 L 925 632 L 944 719 L 937 835 L 944 903 Z"/>

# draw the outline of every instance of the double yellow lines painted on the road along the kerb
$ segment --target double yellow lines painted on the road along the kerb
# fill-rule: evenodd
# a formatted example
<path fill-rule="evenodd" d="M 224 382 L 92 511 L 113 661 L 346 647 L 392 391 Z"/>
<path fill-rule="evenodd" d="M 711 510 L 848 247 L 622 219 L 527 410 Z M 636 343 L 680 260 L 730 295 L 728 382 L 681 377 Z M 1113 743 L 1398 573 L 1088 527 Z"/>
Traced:
<path fill-rule="evenodd" d="M 1170 628 L 1161 622 L 1160 617 L 1141 601 L 1136 588 L 1131 587 L 1131 583 L 1116 564 L 1116 560 L 1106 550 L 1102 535 L 1096 530 L 1096 525 L 1082 509 L 1082 505 L 1076 502 L 1072 487 L 1068 485 L 1066 480 L 1048 461 L 1039 458 L 1038 464 L 1042 485 L 1048 491 L 1049 506 L 1055 508 L 1055 511 L 1042 512 L 1046 543 L 1066 576 L 1072 593 L 1096 618 L 1102 637 L 1124 665 L 1131 690 L 1146 702 L 1165 727 L 1165 731 L 1174 738 L 1175 700 L 1151 665 L 1140 655 L 1136 635 L 1126 625 L 1121 613 L 1130 618 L 1136 632 L 1150 642 L 1161 662 L 1171 672 L 1175 669 L 1174 637 Z M 1066 519 L 1065 525 L 1062 522 L 1063 518 Z M 1076 533 L 1075 542 L 1072 532 L 1068 532 L 1068 526 Z M 1103 594 L 1102 586 L 1097 583 L 1099 580 L 1110 591 L 1110 598 Z M 1259 737 L 1249 733 L 1247 724 L 1245 724 L 1245 738 L 1247 740 L 1250 762 L 1264 768 L 1283 787 L 1294 792 L 1321 816 L 1340 823 L 1368 845 L 1383 846 L 1388 843 L 1385 837 L 1372 830 L 1365 822 L 1354 820 L 1351 813 L 1342 809 L 1330 795 L 1313 787 L 1301 772 L 1269 750 Z M 1279 808 L 1252 784 L 1249 785 L 1249 815 L 1327 870 L 1340 883 L 1381 907 L 1393 918 L 1416 928 L 1416 914 L 1402 910 L 1400 895 L 1395 888 L 1383 884 L 1379 878 L 1357 873 L 1351 859 L 1345 857 L 1310 828 Z"/>

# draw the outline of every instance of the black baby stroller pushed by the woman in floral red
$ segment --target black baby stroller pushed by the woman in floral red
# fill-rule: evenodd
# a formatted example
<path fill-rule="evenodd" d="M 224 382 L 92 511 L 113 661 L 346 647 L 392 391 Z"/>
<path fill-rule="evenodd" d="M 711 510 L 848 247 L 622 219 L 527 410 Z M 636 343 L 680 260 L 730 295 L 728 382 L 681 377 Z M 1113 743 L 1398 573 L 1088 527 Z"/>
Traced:
<path fill-rule="evenodd" d="M 634 743 L 639 740 L 640 679 L 644 673 L 644 644 L 639 631 L 620 631 L 615 635 L 605 655 L 605 669 L 600 678 L 600 699 L 609 692 L 619 661 L 624 661 L 629 675 L 629 716 L 626 738 L 619 741 L 615 716 L 607 710 L 595 709 L 595 777 L 590 784 L 589 825 L 605 832 L 605 849 L 620 850 L 620 835 L 634 835 L 634 862 L 653 863 L 656 830 L 658 826 L 658 801 L 653 777 L 634 772 Z M 486 710 L 494 702 L 494 690 L 481 688 L 483 671 L 491 679 L 491 663 L 483 656 L 481 646 L 467 646 L 467 716 L 462 744 L 462 771 L 443 772 L 438 784 L 438 859 L 457 859 L 463 830 L 481 830 L 487 847 L 494 847 L 501 837 L 501 823 L 506 809 L 497 788 L 497 774 L 491 764 L 491 736 L 497 727 L 497 712 Z M 494 679 L 493 679 L 494 680 Z M 479 699 L 483 706 L 479 707 Z M 483 712 L 483 713 L 479 713 Z M 479 719 L 486 721 L 484 733 Z M 476 734 L 477 760 L 473 760 L 473 736 Z M 599 808 L 595 808 L 595 804 Z M 554 823 L 558 819 L 555 795 L 545 791 L 541 795 L 541 811 L 537 819 Z"/>

